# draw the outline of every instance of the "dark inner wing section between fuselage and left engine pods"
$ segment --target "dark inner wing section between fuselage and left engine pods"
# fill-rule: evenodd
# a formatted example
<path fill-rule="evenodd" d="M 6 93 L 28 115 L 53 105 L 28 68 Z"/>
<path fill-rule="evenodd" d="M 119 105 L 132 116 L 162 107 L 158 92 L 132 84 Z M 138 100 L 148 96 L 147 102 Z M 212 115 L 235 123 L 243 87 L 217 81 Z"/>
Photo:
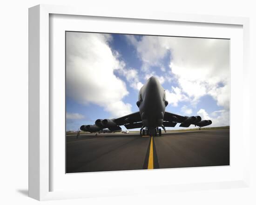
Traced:
<path fill-rule="evenodd" d="M 142 127 L 140 112 L 135 112 L 123 117 L 116 118 L 114 122 L 119 126 L 124 125 L 127 129 Z"/>

